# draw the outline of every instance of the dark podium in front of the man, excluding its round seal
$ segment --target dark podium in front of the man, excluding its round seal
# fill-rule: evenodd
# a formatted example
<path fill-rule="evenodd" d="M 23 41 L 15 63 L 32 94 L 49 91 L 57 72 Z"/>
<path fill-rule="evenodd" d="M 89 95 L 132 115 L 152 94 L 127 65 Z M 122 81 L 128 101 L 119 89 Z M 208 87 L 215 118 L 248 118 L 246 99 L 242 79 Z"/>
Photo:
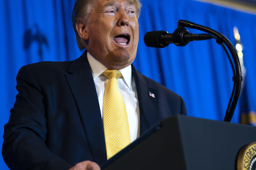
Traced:
<path fill-rule="evenodd" d="M 101 169 L 235 170 L 239 151 L 252 142 L 256 127 L 177 115 L 155 124 Z"/>

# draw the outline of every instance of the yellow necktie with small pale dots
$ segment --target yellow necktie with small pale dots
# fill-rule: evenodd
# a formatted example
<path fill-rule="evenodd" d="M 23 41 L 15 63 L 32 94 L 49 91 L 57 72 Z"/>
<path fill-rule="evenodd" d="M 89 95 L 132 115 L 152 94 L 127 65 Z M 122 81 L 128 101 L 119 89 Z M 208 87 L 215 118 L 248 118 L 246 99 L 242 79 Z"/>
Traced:
<path fill-rule="evenodd" d="M 125 102 L 117 88 L 119 70 L 107 69 L 102 73 L 109 81 L 103 97 L 103 127 L 105 134 L 107 159 L 131 143 Z"/>

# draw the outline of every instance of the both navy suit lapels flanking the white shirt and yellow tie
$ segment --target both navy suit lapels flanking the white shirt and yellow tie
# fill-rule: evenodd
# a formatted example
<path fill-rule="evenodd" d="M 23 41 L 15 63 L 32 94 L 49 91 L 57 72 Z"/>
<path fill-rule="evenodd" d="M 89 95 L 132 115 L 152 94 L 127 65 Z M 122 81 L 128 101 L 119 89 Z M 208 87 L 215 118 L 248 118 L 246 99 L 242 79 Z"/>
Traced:
<path fill-rule="evenodd" d="M 139 101 L 140 134 L 159 121 L 158 90 L 131 65 Z M 95 84 L 93 81 L 86 51 L 75 60 L 65 75 L 77 102 L 86 137 L 94 161 L 101 164 L 106 161 L 106 145 L 101 112 Z M 155 98 L 149 96 L 149 92 Z"/>

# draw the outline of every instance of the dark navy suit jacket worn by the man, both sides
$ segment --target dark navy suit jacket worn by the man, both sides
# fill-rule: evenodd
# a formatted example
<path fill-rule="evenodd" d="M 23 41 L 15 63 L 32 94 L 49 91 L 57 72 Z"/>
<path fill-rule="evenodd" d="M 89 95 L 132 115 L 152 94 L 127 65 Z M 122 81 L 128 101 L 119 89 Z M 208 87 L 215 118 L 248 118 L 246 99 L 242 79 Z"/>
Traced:
<path fill-rule="evenodd" d="M 186 114 L 180 96 L 132 65 L 140 134 L 157 121 Z M 106 159 L 97 92 L 86 52 L 75 61 L 39 62 L 17 75 L 16 102 L 5 125 L 2 154 L 10 169 L 69 169 Z M 149 96 L 155 94 L 155 98 Z"/>

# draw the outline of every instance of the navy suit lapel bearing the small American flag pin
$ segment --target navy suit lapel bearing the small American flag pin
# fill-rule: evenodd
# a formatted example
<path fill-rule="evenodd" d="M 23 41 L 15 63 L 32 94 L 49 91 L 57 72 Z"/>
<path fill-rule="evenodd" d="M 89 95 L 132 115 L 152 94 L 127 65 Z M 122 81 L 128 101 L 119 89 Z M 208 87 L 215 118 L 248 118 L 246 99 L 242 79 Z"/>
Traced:
<path fill-rule="evenodd" d="M 151 83 L 131 65 L 139 101 L 140 134 L 159 121 L 158 90 L 151 87 Z M 149 95 L 155 95 L 155 98 Z"/>

